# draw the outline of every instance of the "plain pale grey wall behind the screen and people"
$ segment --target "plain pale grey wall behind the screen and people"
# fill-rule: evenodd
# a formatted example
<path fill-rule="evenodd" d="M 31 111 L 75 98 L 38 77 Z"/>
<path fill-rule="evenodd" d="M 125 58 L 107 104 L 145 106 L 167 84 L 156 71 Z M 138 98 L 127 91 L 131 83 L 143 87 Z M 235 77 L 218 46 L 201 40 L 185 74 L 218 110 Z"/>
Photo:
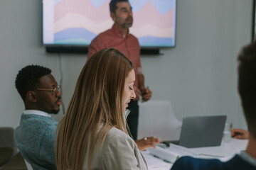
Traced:
<path fill-rule="evenodd" d="M 252 0 L 178 0 L 177 44 L 163 55 L 143 56 L 153 99 L 171 101 L 178 119 L 187 115 L 228 115 L 245 128 L 237 93 L 236 57 L 250 42 Z M 27 64 L 41 64 L 60 79 L 59 57 L 42 41 L 42 6 L 36 0 L 0 1 L 0 126 L 18 125 L 23 102 L 14 81 Z M 86 55 L 61 55 L 63 102 L 73 94 Z M 61 113 L 56 117 L 59 119 Z"/>

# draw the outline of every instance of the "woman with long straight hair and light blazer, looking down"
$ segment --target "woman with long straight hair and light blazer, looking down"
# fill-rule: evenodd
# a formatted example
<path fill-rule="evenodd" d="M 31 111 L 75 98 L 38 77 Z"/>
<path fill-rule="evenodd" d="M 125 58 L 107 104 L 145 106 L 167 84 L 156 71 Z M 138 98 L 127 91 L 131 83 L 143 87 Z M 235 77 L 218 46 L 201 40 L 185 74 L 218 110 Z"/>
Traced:
<path fill-rule="evenodd" d="M 132 62 L 112 48 L 86 62 L 58 124 L 58 169 L 147 169 L 127 135 L 125 108 L 136 97 L 134 81 Z"/>

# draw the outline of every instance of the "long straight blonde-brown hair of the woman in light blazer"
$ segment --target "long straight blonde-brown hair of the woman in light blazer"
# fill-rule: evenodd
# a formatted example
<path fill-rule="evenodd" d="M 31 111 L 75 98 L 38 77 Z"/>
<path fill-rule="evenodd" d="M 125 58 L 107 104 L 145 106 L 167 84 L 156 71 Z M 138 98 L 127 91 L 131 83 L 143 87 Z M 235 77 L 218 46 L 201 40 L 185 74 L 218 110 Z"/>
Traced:
<path fill-rule="evenodd" d="M 95 147 L 102 147 L 111 128 L 127 133 L 122 94 L 124 81 L 132 69 L 132 62 L 113 48 L 96 52 L 86 62 L 68 111 L 58 124 L 57 169 L 82 169 L 87 145 L 90 145 L 87 165 L 90 169 Z"/>

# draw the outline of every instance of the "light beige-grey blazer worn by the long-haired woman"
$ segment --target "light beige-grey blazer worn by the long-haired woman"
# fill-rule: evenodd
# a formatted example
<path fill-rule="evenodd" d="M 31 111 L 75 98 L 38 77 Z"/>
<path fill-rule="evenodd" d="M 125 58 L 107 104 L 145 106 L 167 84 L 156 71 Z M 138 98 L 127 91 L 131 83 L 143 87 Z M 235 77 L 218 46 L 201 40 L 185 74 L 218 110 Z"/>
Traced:
<path fill-rule="evenodd" d="M 88 150 L 89 147 L 85 154 L 83 169 L 87 169 Z M 90 169 L 148 169 L 134 140 L 117 128 L 110 129 L 102 148 L 95 149 L 91 160 Z"/>

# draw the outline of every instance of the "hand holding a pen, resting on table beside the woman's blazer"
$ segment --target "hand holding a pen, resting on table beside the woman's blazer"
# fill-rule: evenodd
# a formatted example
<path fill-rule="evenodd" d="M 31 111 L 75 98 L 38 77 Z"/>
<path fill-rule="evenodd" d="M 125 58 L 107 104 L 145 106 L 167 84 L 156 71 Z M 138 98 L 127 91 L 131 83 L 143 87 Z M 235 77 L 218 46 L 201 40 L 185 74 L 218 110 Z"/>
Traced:
<path fill-rule="evenodd" d="M 156 149 L 155 145 L 160 143 L 160 139 L 156 137 L 144 137 L 141 140 L 135 140 L 135 143 L 141 151 L 149 147 L 154 147 Z"/>

